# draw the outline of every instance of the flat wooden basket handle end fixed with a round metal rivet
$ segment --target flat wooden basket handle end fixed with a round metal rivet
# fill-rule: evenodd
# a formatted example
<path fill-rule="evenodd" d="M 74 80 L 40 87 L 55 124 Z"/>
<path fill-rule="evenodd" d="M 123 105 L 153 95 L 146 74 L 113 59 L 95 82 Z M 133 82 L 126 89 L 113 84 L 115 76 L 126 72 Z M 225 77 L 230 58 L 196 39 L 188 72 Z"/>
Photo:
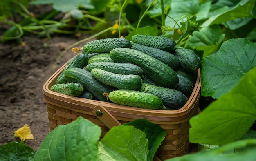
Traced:
<path fill-rule="evenodd" d="M 97 116 L 97 118 L 103 122 L 109 129 L 111 129 L 114 126 L 122 125 L 106 108 L 104 108 L 102 105 L 96 105 L 92 113 Z"/>

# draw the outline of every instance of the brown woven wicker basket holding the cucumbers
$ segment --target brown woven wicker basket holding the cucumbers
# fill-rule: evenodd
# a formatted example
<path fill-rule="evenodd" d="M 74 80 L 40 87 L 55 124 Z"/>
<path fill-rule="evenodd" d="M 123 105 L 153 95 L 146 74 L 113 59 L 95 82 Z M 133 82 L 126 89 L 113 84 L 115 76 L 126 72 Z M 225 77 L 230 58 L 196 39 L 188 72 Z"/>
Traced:
<path fill-rule="evenodd" d="M 68 62 L 67 62 L 68 63 Z M 101 127 L 101 138 L 113 126 L 135 119 L 148 119 L 166 130 L 167 135 L 155 153 L 154 160 L 166 160 L 187 154 L 191 150 L 189 143 L 189 119 L 198 112 L 200 97 L 200 69 L 193 93 L 187 103 L 179 110 L 148 110 L 128 107 L 103 101 L 90 100 L 59 94 L 50 91 L 58 75 L 65 69 L 65 63 L 43 85 L 43 96 L 47 105 L 49 131 L 58 125 L 68 124 L 82 116 Z M 97 112 L 103 112 L 98 116 Z"/>

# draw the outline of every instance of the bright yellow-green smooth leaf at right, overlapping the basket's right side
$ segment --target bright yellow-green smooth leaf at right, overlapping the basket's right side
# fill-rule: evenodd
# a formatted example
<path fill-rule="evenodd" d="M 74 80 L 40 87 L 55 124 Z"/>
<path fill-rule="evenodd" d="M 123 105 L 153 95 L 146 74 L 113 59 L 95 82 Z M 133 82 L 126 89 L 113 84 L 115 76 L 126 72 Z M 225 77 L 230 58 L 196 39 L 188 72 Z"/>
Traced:
<path fill-rule="evenodd" d="M 192 117 L 189 120 L 189 141 L 224 145 L 240 139 L 256 120 L 255 80 L 256 67 L 230 92 Z"/>

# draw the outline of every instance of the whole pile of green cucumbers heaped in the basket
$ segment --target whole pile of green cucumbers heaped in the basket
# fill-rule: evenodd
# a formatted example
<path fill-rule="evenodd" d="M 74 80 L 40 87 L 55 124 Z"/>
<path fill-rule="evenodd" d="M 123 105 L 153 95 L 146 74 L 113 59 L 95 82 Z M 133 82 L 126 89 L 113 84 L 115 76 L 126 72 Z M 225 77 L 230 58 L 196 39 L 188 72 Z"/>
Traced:
<path fill-rule="evenodd" d="M 191 95 L 200 58 L 164 36 L 105 38 L 85 44 L 51 90 L 157 110 L 177 110 Z"/>

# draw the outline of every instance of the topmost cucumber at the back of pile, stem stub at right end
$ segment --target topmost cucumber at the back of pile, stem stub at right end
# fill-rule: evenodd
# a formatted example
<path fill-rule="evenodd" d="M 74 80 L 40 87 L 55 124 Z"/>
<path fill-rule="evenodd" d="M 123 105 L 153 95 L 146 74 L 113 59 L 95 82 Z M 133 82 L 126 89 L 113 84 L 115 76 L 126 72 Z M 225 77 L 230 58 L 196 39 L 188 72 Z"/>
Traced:
<path fill-rule="evenodd" d="M 137 34 L 132 36 L 132 42 L 138 43 L 141 45 L 146 45 L 148 47 L 155 47 L 157 49 L 161 49 L 168 52 L 173 52 L 178 47 L 174 40 L 165 36 L 151 36 L 151 35 Z"/>

